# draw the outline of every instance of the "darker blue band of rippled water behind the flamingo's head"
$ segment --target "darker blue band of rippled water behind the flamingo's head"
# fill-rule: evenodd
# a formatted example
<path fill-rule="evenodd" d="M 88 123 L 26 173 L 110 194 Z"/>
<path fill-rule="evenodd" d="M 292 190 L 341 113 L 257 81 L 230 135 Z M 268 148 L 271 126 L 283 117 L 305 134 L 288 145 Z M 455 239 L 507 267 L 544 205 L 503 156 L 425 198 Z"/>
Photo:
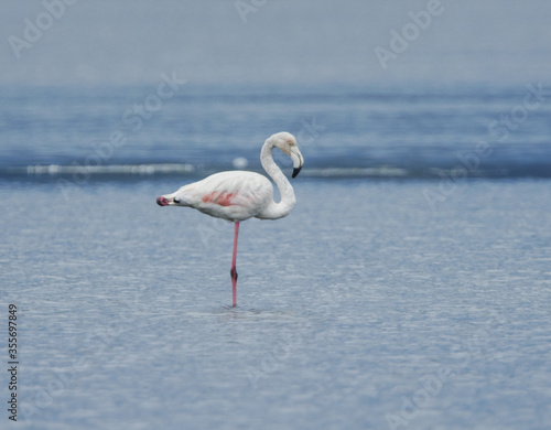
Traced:
<path fill-rule="evenodd" d="M 283 130 L 296 136 L 304 175 L 551 178 L 548 88 L 188 84 L 151 110 L 154 85 L 0 88 L 0 178 L 261 170 L 260 146 Z"/>

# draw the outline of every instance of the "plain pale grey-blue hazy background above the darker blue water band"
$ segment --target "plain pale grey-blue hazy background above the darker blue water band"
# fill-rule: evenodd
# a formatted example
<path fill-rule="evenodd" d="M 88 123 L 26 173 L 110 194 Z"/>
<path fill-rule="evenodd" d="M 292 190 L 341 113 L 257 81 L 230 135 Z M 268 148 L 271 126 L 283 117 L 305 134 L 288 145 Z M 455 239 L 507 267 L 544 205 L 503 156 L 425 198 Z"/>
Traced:
<path fill-rule="evenodd" d="M 156 82 L 179 68 L 191 83 L 412 82 L 496 85 L 551 73 L 551 6 L 545 0 L 442 0 L 443 13 L 383 71 L 374 53 L 389 47 L 408 12 L 426 1 L 266 1 L 237 12 L 235 1 L 76 1 L 17 61 L 8 43 L 40 1 L 7 0 L 0 17 L 0 82 L 97 85 Z"/>

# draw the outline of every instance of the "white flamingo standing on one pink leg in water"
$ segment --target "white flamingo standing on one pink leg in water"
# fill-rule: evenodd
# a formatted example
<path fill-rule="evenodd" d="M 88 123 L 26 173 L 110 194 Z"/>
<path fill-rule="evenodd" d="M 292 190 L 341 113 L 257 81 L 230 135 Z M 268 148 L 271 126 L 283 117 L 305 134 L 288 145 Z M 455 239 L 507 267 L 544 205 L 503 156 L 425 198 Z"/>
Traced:
<path fill-rule="evenodd" d="M 260 152 L 260 162 L 276 182 L 281 194 L 279 203 L 273 201 L 273 185 L 268 178 L 255 172 L 230 171 L 212 174 L 202 181 L 182 186 L 172 194 L 156 198 L 160 206 L 193 207 L 204 214 L 235 223 L 234 252 L 231 258 L 233 308 L 237 307 L 237 237 L 239 223 L 251 217 L 260 219 L 282 218 L 296 202 L 294 191 L 285 175 L 273 161 L 273 148 L 280 149 L 293 161 L 295 178 L 304 164 L 296 139 L 287 131 L 270 136 Z"/>

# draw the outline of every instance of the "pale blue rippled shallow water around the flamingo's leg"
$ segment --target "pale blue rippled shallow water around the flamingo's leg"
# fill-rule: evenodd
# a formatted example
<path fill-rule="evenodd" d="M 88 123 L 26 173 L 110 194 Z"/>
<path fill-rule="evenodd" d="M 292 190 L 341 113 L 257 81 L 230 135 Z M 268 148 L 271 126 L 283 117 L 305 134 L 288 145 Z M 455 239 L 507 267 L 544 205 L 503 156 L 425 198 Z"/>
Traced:
<path fill-rule="evenodd" d="M 237 309 L 233 226 L 155 205 L 181 184 L 0 182 L 20 428 L 551 422 L 548 181 L 299 176 L 241 225 Z"/>

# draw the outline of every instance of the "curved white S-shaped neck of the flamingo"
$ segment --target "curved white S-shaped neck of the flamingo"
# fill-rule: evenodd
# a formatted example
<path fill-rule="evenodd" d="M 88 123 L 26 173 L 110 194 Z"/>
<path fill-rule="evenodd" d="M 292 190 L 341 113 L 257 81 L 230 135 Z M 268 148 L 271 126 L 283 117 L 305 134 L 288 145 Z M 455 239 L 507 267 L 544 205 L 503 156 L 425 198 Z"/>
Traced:
<path fill-rule="evenodd" d="M 281 194 L 281 201 L 276 203 L 272 202 L 264 207 L 261 214 L 258 216 L 259 218 L 270 218 L 277 219 L 287 216 L 291 209 L 294 207 L 294 203 L 296 202 L 294 198 L 294 191 L 291 186 L 291 183 L 285 178 L 281 169 L 273 161 L 272 155 L 273 143 L 270 140 L 267 140 L 262 147 L 262 151 L 260 152 L 260 162 L 262 163 L 262 168 L 264 168 L 266 172 L 270 175 L 270 178 L 278 185 L 279 192 Z"/>

